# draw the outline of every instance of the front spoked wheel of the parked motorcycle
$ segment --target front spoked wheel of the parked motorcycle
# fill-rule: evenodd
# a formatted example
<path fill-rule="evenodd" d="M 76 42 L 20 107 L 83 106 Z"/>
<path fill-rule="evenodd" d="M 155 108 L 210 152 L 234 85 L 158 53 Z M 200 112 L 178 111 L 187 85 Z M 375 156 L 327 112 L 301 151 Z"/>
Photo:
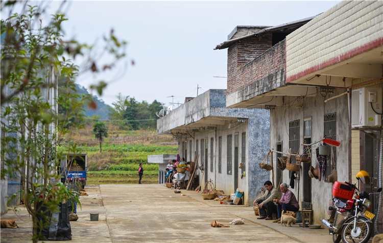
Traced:
<path fill-rule="evenodd" d="M 354 219 L 345 222 L 342 229 L 342 240 L 344 243 L 366 243 L 371 238 L 372 225 L 365 218 L 356 221 L 356 232 L 352 232 Z"/>

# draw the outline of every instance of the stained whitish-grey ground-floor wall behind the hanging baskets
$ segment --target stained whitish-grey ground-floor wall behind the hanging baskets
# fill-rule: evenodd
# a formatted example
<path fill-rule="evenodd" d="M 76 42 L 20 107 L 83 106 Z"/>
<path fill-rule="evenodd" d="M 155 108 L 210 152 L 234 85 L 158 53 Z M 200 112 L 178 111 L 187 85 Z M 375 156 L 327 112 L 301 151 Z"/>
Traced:
<path fill-rule="evenodd" d="M 344 91 L 331 94 L 332 96 L 338 95 Z M 324 100 L 329 96 L 322 97 L 317 96 L 314 100 L 312 97 L 306 97 L 301 104 L 290 106 L 284 109 L 272 110 L 270 114 L 270 146 L 276 148 L 277 142 L 282 141 L 283 152 L 287 153 L 289 149 L 289 122 L 299 120 L 300 121 L 300 144 L 303 143 L 303 119 L 312 117 L 312 142 L 319 141 L 324 136 L 324 115 L 330 113 L 337 114 L 337 141 L 341 142 L 341 145 L 337 147 L 337 172 L 338 181 L 348 181 L 348 169 L 349 169 L 349 119 L 348 119 L 348 101 L 347 95 L 333 99 L 324 103 Z M 293 98 L 286 98 L 285 102 L 288 103 Z M 277 168 L 276 160 L 274 159 L 274 168 Z M 315 167 L 318 161 L 316 155 L 313 154 L 311 165 Z M 277 169 L 279 170 L 279 169 Z M 301 169 L 302 173 L 302 169 Z M 276 174 L 276 173 L 274 173 Z M 298 199 L 298 185 L 295 184 L 295 188 L 291 191 L 297 197 L 299 204 L 303 201 L 303 176 L 300 175 L 299 184 L 299 199 Z M 288 170 L 282 172 L 282 183 L 290 184 L 290 173 Z M 313 203 L 313 220 L 314 224 L 320 224 L 322 219 L 328 218 L 327 209 L 328 201 L 332 198 L 332 184 L 325 182 L 324 180 L 311 179 L 312 186 L 312 203 Z M 277 183 L 277 182 L 276 182 Z"/>

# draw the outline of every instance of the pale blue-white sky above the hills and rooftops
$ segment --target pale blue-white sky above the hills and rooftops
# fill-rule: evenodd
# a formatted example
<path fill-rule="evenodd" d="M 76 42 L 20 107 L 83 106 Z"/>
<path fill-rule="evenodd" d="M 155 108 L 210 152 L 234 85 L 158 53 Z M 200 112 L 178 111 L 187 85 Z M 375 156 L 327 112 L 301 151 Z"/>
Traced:
<path fill-rule="evenodd" d="M 60 3 L 52 2 L 47 12 L 55 13 Z M 128 42 L 125 60 L 113 72 L 101 76 L 112 80 L 99 96 L 105 103 L 111 105 L 121 93 L 139 102 L 182 104 L 185 97 L 197 96 L 197 91 L 202 94 L 209 89 L 226 89 L 227 49 L 213 49 L 227 40 L 235 26 L 288 23 L 318 15 L 337 3 L 71 1 L 64 10 L 68 21 L 63 28 L 65 37 L 88 44 L 111 29 Z M 2 19 L 4 16 L 2 12 Z M 89 90 L 94 77 L 80 75 L 77 83 Z"/>

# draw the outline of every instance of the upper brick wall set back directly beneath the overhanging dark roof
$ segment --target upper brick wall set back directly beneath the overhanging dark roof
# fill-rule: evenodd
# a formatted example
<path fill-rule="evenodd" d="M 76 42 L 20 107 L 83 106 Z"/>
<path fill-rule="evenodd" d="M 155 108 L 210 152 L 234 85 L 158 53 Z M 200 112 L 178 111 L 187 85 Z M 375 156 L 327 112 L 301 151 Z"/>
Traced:
<path fill-rule="evenodd" d="M 228 93 L 238 89 L 238 83 L 242 82 L 241 71 L 247 64 L 253 62 L 256 57 L 272 47 L 272 34 L 266 33 L 261 36 L 249 37 L 231 45 L 227 54 L 227 91 Z M 243 87 L 243 85 L 240 85 Z"/>

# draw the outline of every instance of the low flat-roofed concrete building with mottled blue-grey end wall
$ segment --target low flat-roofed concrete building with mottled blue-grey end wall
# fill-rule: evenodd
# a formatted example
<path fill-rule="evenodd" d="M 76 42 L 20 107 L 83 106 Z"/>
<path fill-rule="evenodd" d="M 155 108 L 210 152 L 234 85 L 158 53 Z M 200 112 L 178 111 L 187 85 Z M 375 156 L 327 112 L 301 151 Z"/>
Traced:
<path fill-rule="evenodd" d="M 252 204 L 270 177 L 258 165 L 269 150 L 269 112 L 227 108 L 226 92 L 208 90 L 180 105 L 157 121 L 157 132 L 172 134 L 187 161 L 199 156 L 202 186 L 212 179 L 225 194 L 239 188 Z"/>

